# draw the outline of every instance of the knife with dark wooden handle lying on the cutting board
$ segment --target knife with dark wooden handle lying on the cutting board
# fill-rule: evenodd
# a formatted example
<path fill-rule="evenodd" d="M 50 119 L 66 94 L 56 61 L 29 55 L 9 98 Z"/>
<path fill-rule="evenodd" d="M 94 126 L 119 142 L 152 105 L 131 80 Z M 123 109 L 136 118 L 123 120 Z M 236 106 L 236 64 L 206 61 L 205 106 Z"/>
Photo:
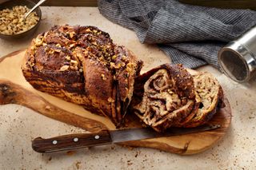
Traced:
<path fill-rule="evenodd" d="M 155 132 L 152 128 L 129 128 L 122 130 L 103 130 L 96 133 L 78 133 L 56 136 L 49 139 L 37 137 L 32 140 L 32 148 L 36 152 L 59 152 L 91 146 L 116 144 L 131 140 L 144 140 L 164 136 L 177 136 L 195 132 L 204 132 L 220 125 L 202 125 L 195 128 L 169 128 L 166 132 Z"/>

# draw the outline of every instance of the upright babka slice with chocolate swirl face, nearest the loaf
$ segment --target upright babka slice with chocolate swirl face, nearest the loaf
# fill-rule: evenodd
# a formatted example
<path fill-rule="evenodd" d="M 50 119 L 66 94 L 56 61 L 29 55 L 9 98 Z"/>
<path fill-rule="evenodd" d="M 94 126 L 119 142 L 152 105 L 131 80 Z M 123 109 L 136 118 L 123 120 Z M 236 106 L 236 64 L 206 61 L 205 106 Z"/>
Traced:
<path fill-rule="evenodd" d="M 131 111 L 158 132 L 186 124 L 198 110 L 193 77 L 182 65 L 161 65 L 135 82 Z"/>

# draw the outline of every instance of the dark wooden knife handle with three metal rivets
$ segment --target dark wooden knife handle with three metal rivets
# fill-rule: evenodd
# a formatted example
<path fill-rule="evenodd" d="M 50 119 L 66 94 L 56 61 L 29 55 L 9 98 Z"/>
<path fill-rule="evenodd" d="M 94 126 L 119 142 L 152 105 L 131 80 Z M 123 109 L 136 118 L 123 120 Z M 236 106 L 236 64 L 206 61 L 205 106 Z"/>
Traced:
<path fill-rule="evenodd" d="M 97 133 L 80 133 L 56 136 L 49 139 L 37 137 L 32 140 L 32 148 L 36 152 L 58 152 L 75 148 L 86 148 L 111 144 L 110 133 L 106 130 Z"/>

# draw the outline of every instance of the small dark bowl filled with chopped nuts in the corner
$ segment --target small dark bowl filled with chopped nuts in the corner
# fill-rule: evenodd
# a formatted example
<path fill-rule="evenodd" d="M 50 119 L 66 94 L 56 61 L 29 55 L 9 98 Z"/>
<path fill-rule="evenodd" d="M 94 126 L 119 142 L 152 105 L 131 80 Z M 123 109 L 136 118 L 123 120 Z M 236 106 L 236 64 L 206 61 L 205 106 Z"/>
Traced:
<path fill-rule="evenodd" d="M 0 38 L 25 38 L 38 28 L 41 21 L 41 10 L 38 7 L 26 20 L 24 15 L 35 6 L 29 0 L 12 0 L 0 4 Z"/>

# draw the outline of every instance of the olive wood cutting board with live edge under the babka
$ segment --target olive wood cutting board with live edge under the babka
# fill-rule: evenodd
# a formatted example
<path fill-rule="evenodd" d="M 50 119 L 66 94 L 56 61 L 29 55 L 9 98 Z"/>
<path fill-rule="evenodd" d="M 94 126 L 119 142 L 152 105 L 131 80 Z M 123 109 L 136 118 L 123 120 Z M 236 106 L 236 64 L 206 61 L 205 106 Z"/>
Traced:
<path fill-rule="evenodd" d="M 115 129 L 114 125 L 106 117 L 90 113 L 86 109 L 83 109 L 82 106 L 63 101 L 58 97 L 53 97 L 33 89 L 22 75 L 21 65 L 24 53 L 25 50 L 20 50 L 0 58 L 0 105 L 23 105 L 46 117 L 86 129 L 90 132 L 99 132 L 103 129 Z M 226 107 L 219 110 L 210 121 L 212 124 L 221 125 L 221 128 L 208 132 L 136 140 L 123 142 L 121 144 L 158 148 L 166 152 L 181 155 L 202 152 L 216 144 L 217 141 L 225 135 L 230 126 L 231 109 L 227 99 L 225 99 L 225 104 Z M 137 117 L 128 115 L 126 128 L 134 127 L 142 127 L 142 123 L 138 121 Z M 38 136 L 40 136 L 40 134 L 38 134 Z"/>

